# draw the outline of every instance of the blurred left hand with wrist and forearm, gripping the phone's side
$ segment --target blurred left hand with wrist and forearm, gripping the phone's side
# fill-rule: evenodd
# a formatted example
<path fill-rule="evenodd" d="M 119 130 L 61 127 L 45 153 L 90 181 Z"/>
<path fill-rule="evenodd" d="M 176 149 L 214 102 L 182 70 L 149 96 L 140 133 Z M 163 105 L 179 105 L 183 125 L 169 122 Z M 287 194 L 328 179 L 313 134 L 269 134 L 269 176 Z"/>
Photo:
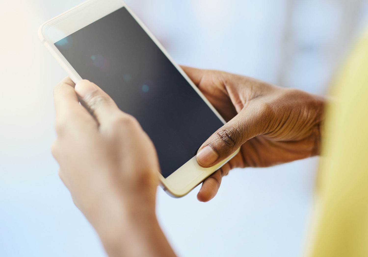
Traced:
<path fill-rule="evenodd" d="M 174 256 L 155 216 L 158 158 L 137 120 L 88 80 L 64 79 L 54 100 L 60 178 L 107 253 Z"/>

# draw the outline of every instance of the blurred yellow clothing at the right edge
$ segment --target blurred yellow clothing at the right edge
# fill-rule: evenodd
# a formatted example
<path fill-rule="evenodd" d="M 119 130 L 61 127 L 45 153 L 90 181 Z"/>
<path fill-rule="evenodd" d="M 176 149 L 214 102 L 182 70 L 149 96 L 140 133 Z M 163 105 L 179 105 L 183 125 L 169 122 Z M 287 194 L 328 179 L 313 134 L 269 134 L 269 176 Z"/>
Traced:
<path fill-rule="evenodd" d="M 368 257 L 368 33 L 326 112 L 309 256 Z"/>

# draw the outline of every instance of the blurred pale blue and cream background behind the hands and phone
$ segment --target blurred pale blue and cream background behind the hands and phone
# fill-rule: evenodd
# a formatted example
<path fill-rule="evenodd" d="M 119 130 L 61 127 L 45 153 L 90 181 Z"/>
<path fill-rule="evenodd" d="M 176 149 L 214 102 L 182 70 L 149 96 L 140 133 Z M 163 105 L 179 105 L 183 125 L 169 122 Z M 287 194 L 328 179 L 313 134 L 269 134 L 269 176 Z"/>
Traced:
<path fill-rule="evenodd" d="M 106 256 L 50 153 L 52 91 L 67 74 L 40 43 L 47 19 L 81 0 L 0 1 L 0 256 Z M 367 0 L 127 0 L 179 64 L 326 94 L 368 25 Z M 179 256 L 301 256 L 318 158 L 237 169 L 199 203 L 158 190 Z"/>

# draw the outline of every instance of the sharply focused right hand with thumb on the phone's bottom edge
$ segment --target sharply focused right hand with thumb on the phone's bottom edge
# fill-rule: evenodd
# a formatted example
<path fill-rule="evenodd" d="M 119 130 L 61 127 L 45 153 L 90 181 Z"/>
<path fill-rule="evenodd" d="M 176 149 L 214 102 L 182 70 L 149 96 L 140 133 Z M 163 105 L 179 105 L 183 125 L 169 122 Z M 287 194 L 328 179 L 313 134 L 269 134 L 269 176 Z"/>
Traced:
<path fill-rule="evenodd" d="M 268 167 L 319 154 L 322 97 L 227 72 L 182 68 L 227 121 L 199 148 L 198 163 L 213 166 L 240 148 L 203 182 L 198 200 L 212 199 L 235 167 Z"/>

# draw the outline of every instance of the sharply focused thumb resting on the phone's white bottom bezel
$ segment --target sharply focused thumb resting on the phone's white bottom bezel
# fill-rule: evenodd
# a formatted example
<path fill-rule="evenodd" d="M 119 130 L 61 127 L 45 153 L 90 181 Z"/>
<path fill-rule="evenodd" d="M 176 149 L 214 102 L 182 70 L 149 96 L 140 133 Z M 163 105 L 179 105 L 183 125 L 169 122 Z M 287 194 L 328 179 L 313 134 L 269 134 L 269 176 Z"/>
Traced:
<path fill-rule="evenodd" d="M 265 116 L 248 106 L 228 123 L 213 133 L 197 153 L 197 162 L 202 167 L 213 166 L 229 157 L 247 140 L 263 134 Z"/>

